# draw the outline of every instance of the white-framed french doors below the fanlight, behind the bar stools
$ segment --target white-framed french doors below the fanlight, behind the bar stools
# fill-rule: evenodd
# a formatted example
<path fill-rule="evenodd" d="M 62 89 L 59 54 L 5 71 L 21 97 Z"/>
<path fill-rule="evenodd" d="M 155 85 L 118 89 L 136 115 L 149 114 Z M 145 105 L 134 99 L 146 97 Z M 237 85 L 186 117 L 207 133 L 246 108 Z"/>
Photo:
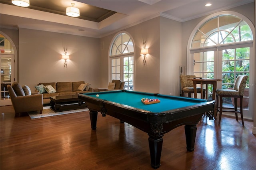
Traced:
<path fill-rule="evenodd" d="M 217 82 L 217 89 L 233 88 L 238 75 L 248 75 L 243 99 L 243 113 L 244 117 L 252 119 L 250 72 L 253 72 L 253 68 L 250 68 L 250 63 L 253 63 L 253 56 L 250 51 L 252 51 L 252 45 L 244 43 L 191 50 L 190 52 L 192 52 L 193 57 L 193 74 L 196 77 L 222 79 L 222 82 Z M 212 85 L 208 85 L 208 99 L 212 98 L 212 89 Z M 223 104 L 227 107 L 233 107 L 234 99 L 224 98 Z"/>

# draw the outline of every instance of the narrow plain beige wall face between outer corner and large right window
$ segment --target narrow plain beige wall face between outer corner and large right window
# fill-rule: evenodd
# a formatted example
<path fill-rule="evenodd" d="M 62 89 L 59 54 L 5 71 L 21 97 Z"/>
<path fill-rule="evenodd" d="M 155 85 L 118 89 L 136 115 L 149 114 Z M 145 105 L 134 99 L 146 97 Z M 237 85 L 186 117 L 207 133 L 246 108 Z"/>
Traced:
<path fill-rule="evenodd" d="M 160 18 L 160 93 L 179 96 L 182 24 Z"/>

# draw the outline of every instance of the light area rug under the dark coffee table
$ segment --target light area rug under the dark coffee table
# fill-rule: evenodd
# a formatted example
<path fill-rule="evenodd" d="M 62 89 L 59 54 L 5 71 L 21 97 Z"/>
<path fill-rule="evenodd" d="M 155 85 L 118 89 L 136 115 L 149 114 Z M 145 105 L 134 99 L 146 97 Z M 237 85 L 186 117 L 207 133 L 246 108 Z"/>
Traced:
<path fill-rule="evenodd" d="M 37 119 L 42 117 L 51 117 L 51 116 L 66 115 L 70 113 L 84 112 L 88 110 L 89 110 L 88 108 L 85 108 L 85 109 L 76 109 L 71 111 L 54 112 L 52 111 L 52 109 L 50 109 L 50 106 L 45 106 L 42 114 L 40 114 L 39 111 L 34 111 L 34 112 L 28 112 L 28 115 L 30 116 L 31 119 Z"/>

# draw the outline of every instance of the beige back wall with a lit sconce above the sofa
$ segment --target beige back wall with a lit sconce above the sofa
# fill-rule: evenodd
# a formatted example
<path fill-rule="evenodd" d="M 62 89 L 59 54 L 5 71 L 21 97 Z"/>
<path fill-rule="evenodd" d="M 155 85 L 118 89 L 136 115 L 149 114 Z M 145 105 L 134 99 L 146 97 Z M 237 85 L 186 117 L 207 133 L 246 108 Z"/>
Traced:
<path fill-rule="evenodd" d="M 19 83 L 32 91 L 39 82 L 81 81 L 96 86 L 100 77 L 100 40 L 54 32 L 19 29 Z M 64 47 L 70 60 L 64 67 Z"/>

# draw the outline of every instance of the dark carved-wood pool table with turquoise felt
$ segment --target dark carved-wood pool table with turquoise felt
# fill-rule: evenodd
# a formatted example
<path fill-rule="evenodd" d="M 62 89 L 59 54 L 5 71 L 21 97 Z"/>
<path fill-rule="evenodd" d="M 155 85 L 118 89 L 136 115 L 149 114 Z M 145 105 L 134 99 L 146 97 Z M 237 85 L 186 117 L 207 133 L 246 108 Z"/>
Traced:
<path fill-rule="evenodd" d="M 160 102 L 144 104 L 142 98 Z M 197 123 L 205 112 L 214 110 L 214 101 L 210 100 L 126 90 L 84 93 L 78 99 L 90 110 L 93 130 L 100 112 L 103 117 L 110 115 L 148 133 L 151 166 L 155 169 L 160 166 L 164 134 L 185 125 L 186 148 L 193 151 Z"/>

